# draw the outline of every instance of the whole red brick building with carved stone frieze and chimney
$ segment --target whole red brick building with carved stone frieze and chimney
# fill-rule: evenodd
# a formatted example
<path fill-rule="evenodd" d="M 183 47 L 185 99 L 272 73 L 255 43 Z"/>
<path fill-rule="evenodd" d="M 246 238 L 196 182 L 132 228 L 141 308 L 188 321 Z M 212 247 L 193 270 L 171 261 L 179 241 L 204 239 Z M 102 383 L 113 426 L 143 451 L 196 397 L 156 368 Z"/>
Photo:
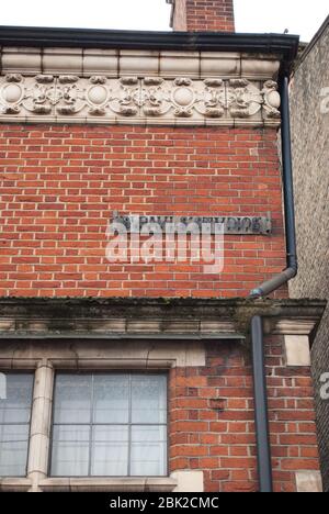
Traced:
<path fill-rule="evenodd" d="M 298 40 L 234 34 L 230 0 L 177 1 L 172 23 L 0 30 L 2 491 L 262 490 L 256 316 L 274 490 L 320 490 L 325 303 L 248 298 L 286 262 L 277 81 Z M 192 236 L 184 262 L 109 261 L 132 216 L 222 220 L 224 269 L 189 260 Z"/>

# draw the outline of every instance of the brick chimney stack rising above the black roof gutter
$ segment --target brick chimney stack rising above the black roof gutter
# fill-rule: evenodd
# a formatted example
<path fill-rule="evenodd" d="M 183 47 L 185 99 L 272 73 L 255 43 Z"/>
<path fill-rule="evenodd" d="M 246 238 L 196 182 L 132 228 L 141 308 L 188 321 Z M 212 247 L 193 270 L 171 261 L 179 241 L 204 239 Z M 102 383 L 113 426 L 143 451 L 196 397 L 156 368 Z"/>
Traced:
<path fill-rule="evenodd" d="M 167 0 L 174 31 L 235 32 L 234 0 Z"/>

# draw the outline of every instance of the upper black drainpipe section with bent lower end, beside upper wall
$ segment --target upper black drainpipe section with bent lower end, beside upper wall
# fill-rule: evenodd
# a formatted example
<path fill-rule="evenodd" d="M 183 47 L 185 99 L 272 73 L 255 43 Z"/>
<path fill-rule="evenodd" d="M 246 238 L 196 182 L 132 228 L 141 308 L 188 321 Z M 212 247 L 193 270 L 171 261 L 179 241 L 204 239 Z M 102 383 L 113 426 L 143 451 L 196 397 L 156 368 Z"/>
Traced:
<path fill-rule="evenodd" d="M 266 297 L 296 277 L 298 272 L 288 85 L 288 77 L 283 77 L 280 88 L 282 99 L 281 141 L 287 267 L 271 280 L 253 289 L 250 293 L 251 298 Z"/>

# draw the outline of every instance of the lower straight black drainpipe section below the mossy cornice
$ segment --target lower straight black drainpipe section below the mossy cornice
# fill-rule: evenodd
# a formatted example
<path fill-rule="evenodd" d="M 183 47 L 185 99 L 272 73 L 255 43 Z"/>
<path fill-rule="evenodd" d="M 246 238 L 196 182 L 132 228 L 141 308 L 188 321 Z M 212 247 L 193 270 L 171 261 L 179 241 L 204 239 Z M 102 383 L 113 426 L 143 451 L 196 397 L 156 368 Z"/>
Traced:
<path fill-rule="evenodd" d="M 273 492 L 273 477 L 271 461 L 263 324 L 262 319 L 260 316 L 254 316 L 251 321 L 251 340 L 259 490 L 261 493 L 270 493 Z"/>

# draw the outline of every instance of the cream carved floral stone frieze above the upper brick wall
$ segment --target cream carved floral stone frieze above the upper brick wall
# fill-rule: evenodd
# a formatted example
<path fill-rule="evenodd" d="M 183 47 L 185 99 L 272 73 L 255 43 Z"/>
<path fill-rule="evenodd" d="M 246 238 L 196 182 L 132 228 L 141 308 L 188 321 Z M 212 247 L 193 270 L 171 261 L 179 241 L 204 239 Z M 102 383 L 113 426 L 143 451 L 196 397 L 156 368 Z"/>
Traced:
<path fill-rule="evenodd" d="M 190 123 L 205 120 L 220 124 L 231 120 L 279 123 L 280 94 L 272 80 L 251 82 L 247 79 L 208 78 L 192 80 L 179 77 L 122 77 L 109 79 L 75 75 L 37 75 L 23 77 L 9 74 L 0 78 L 0 120 L 22 118 L 88 120 L 95 123 L 136 122 Z M 77 120 L 75 120 L 77 119 Z"/>

